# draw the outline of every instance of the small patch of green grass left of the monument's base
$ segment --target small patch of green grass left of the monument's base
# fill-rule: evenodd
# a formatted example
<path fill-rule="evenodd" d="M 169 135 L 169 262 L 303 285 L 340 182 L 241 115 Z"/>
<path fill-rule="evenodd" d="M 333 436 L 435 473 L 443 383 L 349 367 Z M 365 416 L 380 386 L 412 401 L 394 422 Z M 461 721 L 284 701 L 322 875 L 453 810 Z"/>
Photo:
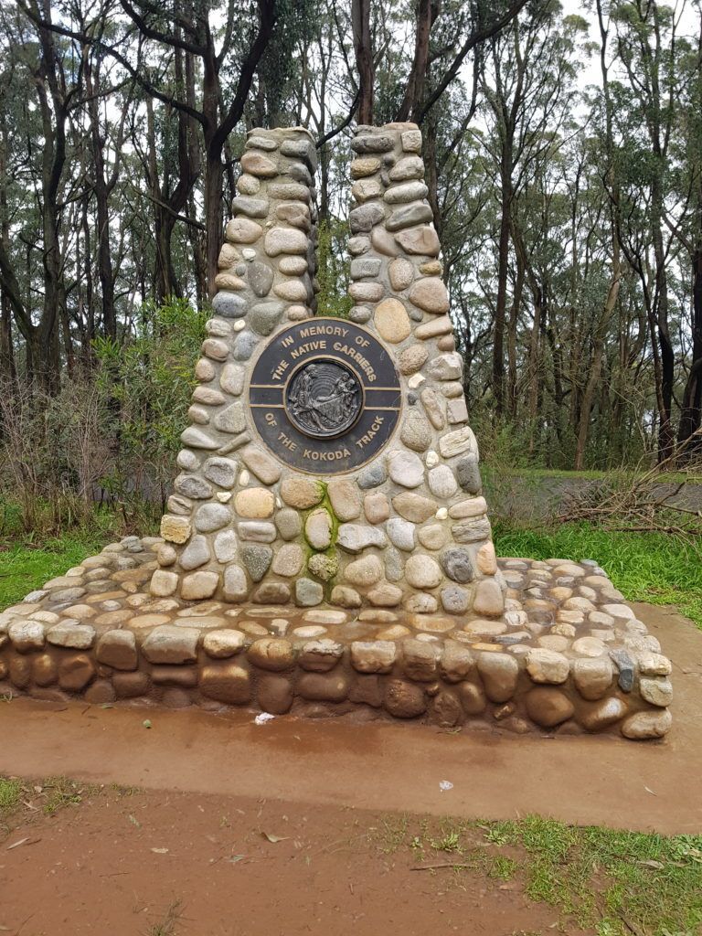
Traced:
<path fill-rule="evenodd" d="M 0 607 L 21 601 L 50 578 L 99 552 L 106 540 L 99 534 L 66 534 L 44 543 L 21 543 L 0 551 Z"/>

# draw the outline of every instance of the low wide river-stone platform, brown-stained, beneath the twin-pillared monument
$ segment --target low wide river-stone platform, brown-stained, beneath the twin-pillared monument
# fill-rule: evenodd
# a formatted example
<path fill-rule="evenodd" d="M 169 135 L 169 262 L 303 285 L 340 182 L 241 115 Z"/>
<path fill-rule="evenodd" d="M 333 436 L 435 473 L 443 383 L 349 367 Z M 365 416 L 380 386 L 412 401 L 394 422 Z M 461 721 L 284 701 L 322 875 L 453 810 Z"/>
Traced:
<path fill-rule="evenodd" d="M 499 560 L 505 612 L 478 618 L 154 598 L 162 543 L 127 537 L 0 614 L 0 694 L 518 734 L 670 727 L 670 662 L 596 563 Z"/>

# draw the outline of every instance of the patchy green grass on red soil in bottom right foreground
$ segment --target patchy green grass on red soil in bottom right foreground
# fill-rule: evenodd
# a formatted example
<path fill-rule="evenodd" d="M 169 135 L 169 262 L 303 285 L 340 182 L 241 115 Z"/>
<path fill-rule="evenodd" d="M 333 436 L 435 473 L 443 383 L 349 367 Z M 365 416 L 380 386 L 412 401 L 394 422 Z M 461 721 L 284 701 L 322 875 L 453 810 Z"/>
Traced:
<path fill-rule="evenodd" d="M 693 936 L 702 928 L 702 836 L 577 828 L 539 816 L 393 816 L 374 831 L 386 854 L 409 849 L 413 864 L 434 869 L 442 890 L 463 885 L 466 873 L 519 882 L 558 911 L 560 931 L 575 923 L 598 936 Z"/>

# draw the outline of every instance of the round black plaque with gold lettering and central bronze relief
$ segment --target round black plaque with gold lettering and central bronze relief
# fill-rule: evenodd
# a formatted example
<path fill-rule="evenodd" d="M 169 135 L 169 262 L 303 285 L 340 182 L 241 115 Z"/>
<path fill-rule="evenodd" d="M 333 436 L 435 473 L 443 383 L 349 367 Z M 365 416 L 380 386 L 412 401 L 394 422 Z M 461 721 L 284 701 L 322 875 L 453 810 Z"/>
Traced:
<path fill-rule="evenodd" d="M 338 318 L 307 319 L 266 345 L 251 375 L 254 425 L 281 461 L 336 475 L 370 461 L 400 416 L 401 390 L 388 351 Z"/>

